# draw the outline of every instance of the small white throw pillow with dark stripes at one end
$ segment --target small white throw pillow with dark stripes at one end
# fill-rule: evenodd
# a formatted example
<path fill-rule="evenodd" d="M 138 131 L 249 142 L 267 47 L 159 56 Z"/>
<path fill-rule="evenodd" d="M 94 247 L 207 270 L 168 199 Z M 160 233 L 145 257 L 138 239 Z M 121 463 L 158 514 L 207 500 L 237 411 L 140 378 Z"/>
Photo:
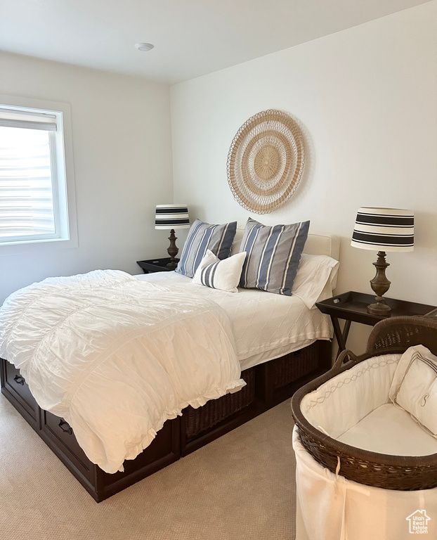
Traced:
<path fill-rule="evenodd" d="M 244 259 L 246 259 L 245 252 L 220 260 L 213 252 L 207 250 L 197 267 L 193 283 L 238 293 L 237 285 L 240 282 Z"/>

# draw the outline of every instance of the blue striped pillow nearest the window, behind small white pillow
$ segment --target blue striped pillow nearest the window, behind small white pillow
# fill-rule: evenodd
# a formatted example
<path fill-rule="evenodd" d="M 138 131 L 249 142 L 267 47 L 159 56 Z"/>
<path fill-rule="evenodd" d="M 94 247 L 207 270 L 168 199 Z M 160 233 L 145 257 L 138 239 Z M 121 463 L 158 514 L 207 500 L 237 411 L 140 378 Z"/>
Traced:
<path fill-rule="evenodd" d="M 237 221 L 211 225 L 196 219 L 188 232 L 176 272 L 193 278 L 207 250 L 213 252 L 218 259 L 229 257 L 235 231 L 237 231 Z"/>

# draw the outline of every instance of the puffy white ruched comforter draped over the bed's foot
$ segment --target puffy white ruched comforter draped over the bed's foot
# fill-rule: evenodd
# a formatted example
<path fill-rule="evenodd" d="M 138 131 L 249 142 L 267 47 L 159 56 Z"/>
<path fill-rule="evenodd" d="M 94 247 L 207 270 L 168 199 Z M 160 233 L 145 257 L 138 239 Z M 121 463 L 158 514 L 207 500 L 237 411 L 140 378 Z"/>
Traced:
<path fill-rule="evenodd" d="M 121 271 L 13 293 L 0 309 L 0 356 L 107 473 L 123 470 L 185 406 L 245 384 L 218 304 Z"/>

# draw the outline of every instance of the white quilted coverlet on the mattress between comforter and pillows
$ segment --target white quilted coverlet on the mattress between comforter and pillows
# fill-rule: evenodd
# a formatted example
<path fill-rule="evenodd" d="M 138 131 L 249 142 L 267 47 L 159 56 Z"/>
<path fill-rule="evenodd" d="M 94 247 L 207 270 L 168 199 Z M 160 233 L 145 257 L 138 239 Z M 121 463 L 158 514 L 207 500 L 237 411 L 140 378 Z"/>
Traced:
<path fill-rule="evenodd" d="M 282 296 L 263 290 L 242 289 L 227 293 L 192 283 L 176 272 L 135 276 L 174 291 L 214 300 L 228 314 L 233 325 L 237 358 L 242 370 L 296 351 L 315 340 L 332 338 L 330 318 L 318 309 L 308 309 L 296 296 Z"/>

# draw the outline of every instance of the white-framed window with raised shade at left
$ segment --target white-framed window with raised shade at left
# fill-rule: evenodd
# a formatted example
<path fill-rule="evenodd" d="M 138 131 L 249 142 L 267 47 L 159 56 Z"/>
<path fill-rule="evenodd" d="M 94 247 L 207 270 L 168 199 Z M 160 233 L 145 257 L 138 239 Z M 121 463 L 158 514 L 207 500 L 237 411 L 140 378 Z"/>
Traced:
<path fill-rule="evenodd" d="M 0 248 L 65 243 L 75 233 L 64 134 L 62 110 L 0 101 Z"/>

